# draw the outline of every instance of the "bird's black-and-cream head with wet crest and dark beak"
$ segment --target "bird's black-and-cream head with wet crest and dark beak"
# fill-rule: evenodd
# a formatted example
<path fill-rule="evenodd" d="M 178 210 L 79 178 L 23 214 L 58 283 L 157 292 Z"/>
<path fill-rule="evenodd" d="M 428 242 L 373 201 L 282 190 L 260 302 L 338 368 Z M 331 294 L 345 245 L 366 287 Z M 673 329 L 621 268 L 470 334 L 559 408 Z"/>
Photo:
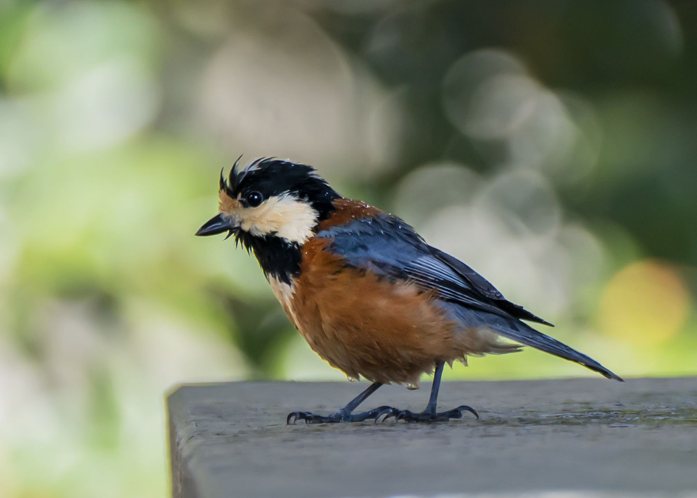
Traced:
<path fill-rule="evenodd" d="M 247 250 L 256 246 L 255 240 L 302 245 L 339 197 L 310 166 L 261 158 L 238 169 L 238 162 L 227 181 L 220 172 L 220 213 L 197 235 L 228 232 Z"/>

